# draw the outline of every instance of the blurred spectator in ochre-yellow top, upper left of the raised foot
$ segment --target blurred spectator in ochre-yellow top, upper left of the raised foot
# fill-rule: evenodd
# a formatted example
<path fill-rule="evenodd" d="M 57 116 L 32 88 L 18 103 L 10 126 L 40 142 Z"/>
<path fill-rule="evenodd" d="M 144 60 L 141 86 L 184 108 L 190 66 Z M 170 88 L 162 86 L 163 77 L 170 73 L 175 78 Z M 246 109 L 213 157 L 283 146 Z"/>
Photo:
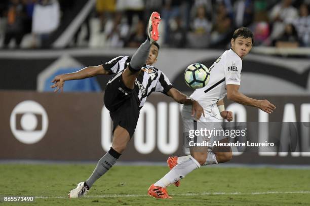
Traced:
<path fill-rule="evenodd" d="M 107 19 L 113 18 L 116 8 L 116 0 L 97 0 L 96 12 L 100 18 L 100 31 L 104 31 Z"/>

